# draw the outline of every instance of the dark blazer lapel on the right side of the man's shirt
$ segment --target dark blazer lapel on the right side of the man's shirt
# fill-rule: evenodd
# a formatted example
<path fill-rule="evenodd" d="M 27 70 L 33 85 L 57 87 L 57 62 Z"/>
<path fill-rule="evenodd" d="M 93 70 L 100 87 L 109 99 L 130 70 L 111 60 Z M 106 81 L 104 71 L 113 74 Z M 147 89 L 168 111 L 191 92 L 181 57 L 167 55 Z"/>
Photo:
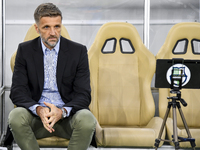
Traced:
<path fill-rule="evenodd" d="M 67 51 L 68 51 L 67 41 L 66 39 L 61 37 L 60 50 L 59 50 L 58 61 L 57 61 L 57 72 L 56 72 L 58 90 L 60 90 L 63 71 L 65 69 L 67 61 L 69 60 L 69 53 L 67 53 Z"/>

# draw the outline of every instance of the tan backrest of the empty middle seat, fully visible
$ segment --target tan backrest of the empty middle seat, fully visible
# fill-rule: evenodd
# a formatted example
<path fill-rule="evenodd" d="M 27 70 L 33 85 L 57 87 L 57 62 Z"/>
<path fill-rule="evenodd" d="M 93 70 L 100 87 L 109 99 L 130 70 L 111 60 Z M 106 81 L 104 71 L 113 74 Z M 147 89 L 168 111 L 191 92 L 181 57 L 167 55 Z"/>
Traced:
<path fill-rule="evenodd" d="M 144 126 L 155 114 L 155 57 L 129 23 L 104 24 L 88 51 L 91 111 L 101 126 Z"/>

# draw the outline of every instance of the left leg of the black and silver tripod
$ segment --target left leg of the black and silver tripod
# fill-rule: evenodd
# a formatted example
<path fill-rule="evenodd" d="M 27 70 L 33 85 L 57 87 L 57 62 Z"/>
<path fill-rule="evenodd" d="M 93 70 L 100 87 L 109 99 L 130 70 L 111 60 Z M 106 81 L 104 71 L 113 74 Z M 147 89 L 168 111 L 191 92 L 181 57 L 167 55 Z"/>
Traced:
<path fill-rule="evenodd" d="M 163 122 L 162 122 L 162 125 L 161 125 L 161 128 L 160 128 L 160 132 L 159 132 L 158 138 L 155 140 L 155 144 L 154 144 L 155 150 L 157 150 L 157 148 L 158 148 L 158 146 L 160 144 L 161 136 L 162 136 L 164 127 L 166 125 L 166 121 L 167 121 L 167 117 L 169 115 L 170 108 L 171 108 L 171 103 L 169 102 L 168 106 L 167 106 L 167 110 L 166 110 L 165 116 L 163 118 Z"/>

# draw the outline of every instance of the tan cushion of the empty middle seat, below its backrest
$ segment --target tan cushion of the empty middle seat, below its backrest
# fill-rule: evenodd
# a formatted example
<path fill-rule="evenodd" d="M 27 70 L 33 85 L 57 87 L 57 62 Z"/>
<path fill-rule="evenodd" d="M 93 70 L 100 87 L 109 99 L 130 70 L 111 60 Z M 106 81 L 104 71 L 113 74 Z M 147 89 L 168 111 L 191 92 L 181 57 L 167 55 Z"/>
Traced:
<path fill-rule="evenodd" d="M 102 127 L 103 146 L 117 147 L 154 147 L 155 139 L 158 138 L 162 119 L 154 117 L 145 127 Z M 162 139 L 165 138 L 165 130 Z M 163 142 L 160 142 L 160 146 Z"/>

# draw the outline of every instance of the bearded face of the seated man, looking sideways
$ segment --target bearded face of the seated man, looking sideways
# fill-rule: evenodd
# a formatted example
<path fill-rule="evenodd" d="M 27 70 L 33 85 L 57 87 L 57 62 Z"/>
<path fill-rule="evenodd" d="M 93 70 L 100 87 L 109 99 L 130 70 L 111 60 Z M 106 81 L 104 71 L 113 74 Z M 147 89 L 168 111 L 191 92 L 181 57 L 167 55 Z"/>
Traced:
<path fill-rule="evenodd" d="M 61 17 L 42 17 L 38 24 L 35 24 L 37 33 L 40 34 L 44 45 L 50 50 L 58 43 L 61 32 Z"/>

